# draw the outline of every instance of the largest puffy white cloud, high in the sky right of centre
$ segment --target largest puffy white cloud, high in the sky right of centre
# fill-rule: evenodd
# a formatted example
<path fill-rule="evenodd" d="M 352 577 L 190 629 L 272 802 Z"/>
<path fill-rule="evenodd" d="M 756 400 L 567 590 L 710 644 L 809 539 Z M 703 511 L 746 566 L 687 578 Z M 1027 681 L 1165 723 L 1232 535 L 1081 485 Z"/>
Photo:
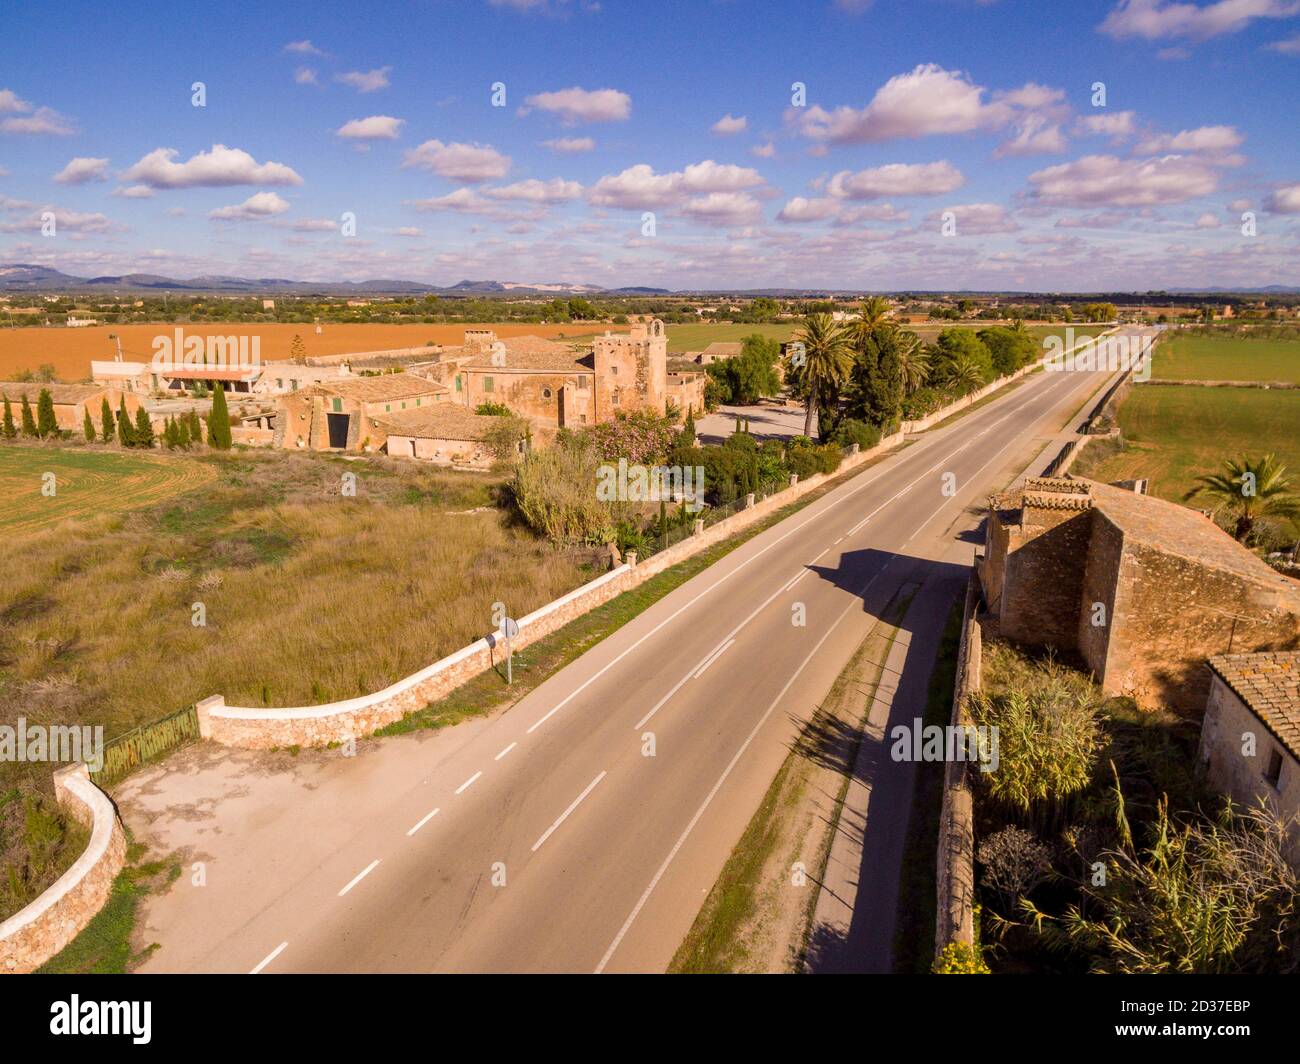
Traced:
<path fill-rule="evenodd" d="M 984 88 L 957 70 L 923 64 L 887 81 L 864 108 L 822 107 L 792 109 L 796 129 L 812 140 L 835 144 L 868 143 L 941 133 L 971 133 L 1005 126 L 1014 116 L 1017 92 L 1041 95 L 1041 86 L 1024 86 L 984 101 Z"/>

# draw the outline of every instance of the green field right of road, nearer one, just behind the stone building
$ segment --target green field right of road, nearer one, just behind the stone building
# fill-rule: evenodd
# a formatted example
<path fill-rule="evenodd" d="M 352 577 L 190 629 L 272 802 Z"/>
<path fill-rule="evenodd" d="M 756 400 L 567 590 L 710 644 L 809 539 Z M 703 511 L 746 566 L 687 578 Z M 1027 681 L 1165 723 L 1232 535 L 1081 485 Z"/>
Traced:
<path fill-rule="evenodd" d="M 1196 477 L 1218 472 L 1226 458 L 1271 451 L 1300 480 L 1297 424 L 1297 392 L 1138 385 L 1119 407 L 1127 447 L 1083 467 L 1083 475 L 1104 481 L 1145 476 L 1152 494 L 1182 502 Z"/>

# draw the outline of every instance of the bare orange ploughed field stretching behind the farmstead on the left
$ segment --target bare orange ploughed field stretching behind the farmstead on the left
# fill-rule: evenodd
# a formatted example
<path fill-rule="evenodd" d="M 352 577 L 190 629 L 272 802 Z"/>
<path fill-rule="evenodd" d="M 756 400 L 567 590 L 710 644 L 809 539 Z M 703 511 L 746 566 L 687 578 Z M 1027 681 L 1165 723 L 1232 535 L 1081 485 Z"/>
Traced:
<path fill-rule="evenodd" d="M 261 337 L 261 358 L 287 359 L 289 346 L 295 336 L 303 338 L 307 356 L 342 355 L 351 351 L 384 351 L 394 347 L 422 347 L 430 341 L 456 345 L 464 339 L 465 329 L 495 329 L 502 338 L 512 336 L 542 336 L 566 339 L 578 333 L 592 336 L 589 324 L 528 325 L 528 324 L 450 324 L 450 325 L 315 325 L 255 324 L 255 325 L 91 325 L 84 329 L 18 328 L 0 329 L 0 380 L 12 380 L 23 369 L 53 366 L 62 381 L 90 379 L 91 359 L 112 359 L 116 346 L 109 339 L 116 333 L 122 339 L 127 359 L 148 362 L 153 351 L 153 337 L 172 336 L 177 329 L 187 336 L 248 336 Z M 627 332 L 627 325 L 610 325 L 614 332 Z M 603 332 L 603 329 L 602 329 Z M 671 330 L 670 330 L 671 333 Z"/>

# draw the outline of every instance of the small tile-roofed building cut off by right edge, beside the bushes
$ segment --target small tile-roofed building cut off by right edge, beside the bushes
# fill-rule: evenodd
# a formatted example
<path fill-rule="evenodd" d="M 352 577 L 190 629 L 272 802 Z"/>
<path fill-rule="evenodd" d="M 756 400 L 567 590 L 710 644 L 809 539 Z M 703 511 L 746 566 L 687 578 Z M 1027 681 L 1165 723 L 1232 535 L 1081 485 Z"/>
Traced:
<path fill-rule="evenodd" d="M 1238 805 L 1265 806 L 1290 827 L 1300 866 L 1300 650 L 1210 658 L 1201 725 L 1206 782 Z"/>

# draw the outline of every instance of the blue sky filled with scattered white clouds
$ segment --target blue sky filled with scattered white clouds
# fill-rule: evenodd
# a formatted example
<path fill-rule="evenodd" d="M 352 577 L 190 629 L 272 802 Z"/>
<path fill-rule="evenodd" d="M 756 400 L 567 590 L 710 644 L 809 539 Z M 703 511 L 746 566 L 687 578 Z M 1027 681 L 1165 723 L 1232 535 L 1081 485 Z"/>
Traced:
<path fill-rule="evenodd" d="M 112 10 L 8 5 L 0 261 L 673 289 L 1300 284 L 1300 0 Z"/>

